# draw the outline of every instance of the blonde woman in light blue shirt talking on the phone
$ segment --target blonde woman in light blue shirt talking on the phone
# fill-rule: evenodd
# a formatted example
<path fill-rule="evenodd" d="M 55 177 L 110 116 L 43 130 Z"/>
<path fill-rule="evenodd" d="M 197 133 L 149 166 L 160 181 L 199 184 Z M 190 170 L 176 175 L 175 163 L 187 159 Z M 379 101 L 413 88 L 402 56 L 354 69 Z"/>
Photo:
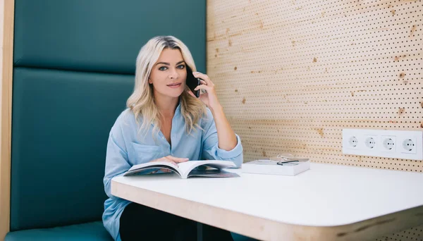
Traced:
<path fill-rule="evenodd" d="M 187 87 L 192 70 L 201 78 L 199 98 Z M 154 37 L 140 50 L 135 88 L 111 128 L 106 151 L 103 223 L 114 240 L 196 240 L 196 223 L 111 194 L 111 178 L 139 163 L 218 159 L 243 163 L 240 138 L 229 125 L 214 83 L 195 72 L 188 47 L 172 36 Z M 195 90 L 197 90 L 195 89 Z M 163 172 L 157 170 L 153 173 Z M 151 174 L 151 173 L 150 173 Z M 204 225 L 204 240 L 232 240 L 226 230 Z"/>

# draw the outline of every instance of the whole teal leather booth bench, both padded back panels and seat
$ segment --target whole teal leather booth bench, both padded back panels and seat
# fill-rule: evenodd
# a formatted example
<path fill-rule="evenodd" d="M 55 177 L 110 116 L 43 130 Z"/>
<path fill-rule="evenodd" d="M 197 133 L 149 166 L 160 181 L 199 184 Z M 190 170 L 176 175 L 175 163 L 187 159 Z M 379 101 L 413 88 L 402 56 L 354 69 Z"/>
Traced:
<path fill-rule="evenodd" d="M 206 1 L 15 0 L 15 8 L 6 241 L 112 240 L 101 221 L 106 142 L 133 90 L 135 58 L 151 37 L 174 35 L 205 71 Z"/>

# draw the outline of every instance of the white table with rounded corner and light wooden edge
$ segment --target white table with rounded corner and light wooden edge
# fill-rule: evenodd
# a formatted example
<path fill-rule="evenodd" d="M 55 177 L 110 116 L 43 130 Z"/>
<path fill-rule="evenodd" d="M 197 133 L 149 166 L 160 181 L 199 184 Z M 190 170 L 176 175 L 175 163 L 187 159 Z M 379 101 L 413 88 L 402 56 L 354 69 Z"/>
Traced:
<path fill-rule="evenodd" d="M 240 175 L 117 177 L 111 193 L 259 240 L 374 240 L 423 224 L 423 173 L 312 163 Z"/>

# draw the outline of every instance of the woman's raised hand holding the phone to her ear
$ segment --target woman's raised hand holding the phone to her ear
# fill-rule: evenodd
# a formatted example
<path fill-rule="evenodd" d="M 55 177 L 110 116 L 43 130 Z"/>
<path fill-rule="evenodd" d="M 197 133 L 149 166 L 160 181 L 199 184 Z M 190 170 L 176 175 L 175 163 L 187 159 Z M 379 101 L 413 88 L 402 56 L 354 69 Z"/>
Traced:
<path fill-rule="evenodd" d="M 195 78 L 202 79 L 200 81 L 201 85 L 197 86 L 195 90 L 197 89 L 205 89 L 207 93 L 200 93 L 200 100 L 203 101 L 203 103 L 208 106 L 210 109 L 216 109 L 219 108 L 220 103 L 217 99 L 216 89 L 214 89 L 214 83 L 212 80 L 210 80 L 209 76 L 204 75 L 200 72 L 193 72 L 192 73 Z M 195 97 L 192 92 L 189 92 L 193 97 Z"/>

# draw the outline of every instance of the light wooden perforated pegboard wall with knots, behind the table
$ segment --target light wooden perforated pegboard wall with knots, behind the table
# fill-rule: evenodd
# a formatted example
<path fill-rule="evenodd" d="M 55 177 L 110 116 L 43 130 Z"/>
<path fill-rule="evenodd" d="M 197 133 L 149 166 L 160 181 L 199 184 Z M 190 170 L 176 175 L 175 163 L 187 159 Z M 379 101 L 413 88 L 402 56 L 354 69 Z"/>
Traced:
<path fill-rule="evenodd" d="M 342 154 L 343 128 L 423 130 L 423 2 L 207 1 L 207 74 L 245 161 L 279 153 L 423 171 Z"/>

